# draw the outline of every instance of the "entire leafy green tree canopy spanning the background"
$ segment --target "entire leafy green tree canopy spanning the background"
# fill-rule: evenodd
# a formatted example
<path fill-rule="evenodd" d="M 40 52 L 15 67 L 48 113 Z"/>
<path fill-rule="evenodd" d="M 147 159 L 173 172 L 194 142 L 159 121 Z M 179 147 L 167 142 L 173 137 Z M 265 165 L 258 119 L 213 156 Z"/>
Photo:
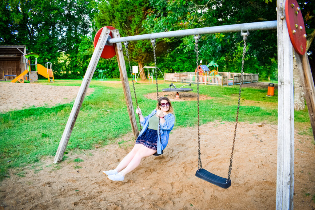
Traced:
<path fill-rule="evenodd" d="M 299 4 L 311 43 L 312 66 L 314 3 Z M 276 20 L 275 0 L 6 0 L 0 2 L 0 44 L 26 45 L 28 52 L 40 54 L 38 63 L 53 63 L 57 78 L 77 78 L 84 75 L 94 50 L 93 37 L 103 26 L 119 29 L 123 37 L 268 20 Z M 276 30 L 250 31 L 246 72 L 267 78 L 277 71 L 276 34 Z M 198 46 L 203 63 L 215 61 L 219 71 L 240 71 L 240 32 L 202 35 Z M 130 42 L 129 54 L 132 65 L 154 64 L 149 40 Z M 158 39 L 157 65 L 163 72 L 194 71 L 192 36 Z M 101 59 L 98 67 L 109 69 L 109 77 L 119 77 L 115 58 Z"/>

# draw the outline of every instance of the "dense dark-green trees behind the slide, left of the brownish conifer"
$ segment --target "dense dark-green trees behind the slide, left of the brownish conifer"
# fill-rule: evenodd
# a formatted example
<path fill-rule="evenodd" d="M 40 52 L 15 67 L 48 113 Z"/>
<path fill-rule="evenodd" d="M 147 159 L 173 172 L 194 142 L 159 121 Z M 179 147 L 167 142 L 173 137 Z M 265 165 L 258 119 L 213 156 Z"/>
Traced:
<path fill-rule="evenodd" d="M 95 7 L 92 0 L 2 1 L 0 43 L 26 45 L 40 55 L 38 63 L 53 63 L 56 77 L 63 70 L 75 78 L 84 71 L 77 68 L 78 45 L 92 32 Z"/>

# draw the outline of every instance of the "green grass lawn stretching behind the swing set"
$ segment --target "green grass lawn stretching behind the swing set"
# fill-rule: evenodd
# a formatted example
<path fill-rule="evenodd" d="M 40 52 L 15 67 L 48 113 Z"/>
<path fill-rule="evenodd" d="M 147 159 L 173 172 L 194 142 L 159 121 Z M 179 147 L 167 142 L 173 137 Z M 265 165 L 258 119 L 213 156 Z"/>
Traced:
<path fill-rule="evenodd" d="M 80 86 L 82 82 L 55 81 L 49 83 L 46 80 L 39 80 L 39 83 Z M 168 88 L 168 84 L 168 82 L 159 84 L 159 90 Z M 130 85 L 132 86 L 131 83 Z M 95 145 L 107 145 L 123 134 L 131 132 L 122 85 L 93 80 L 90 88 L 94 88 L 95 91 L 84 99 L 66 153 L 74 149 L 94 149 Z M 156 86 L 135 84 L 135 88 L 143 115 L 148 115 L 156 106 L 156 100 L 147 99 L 143 95 L 156 92 Z M 197 92 L 195 84 L 192 88 L 193 92 Z M 199 85 L 200 94 L 214 97 L 211 100 L 200 101 L 200 123 L 235 121 L 238 89 L 238 86 Z M 242 88 L 239 121 L 277 123 L 278 92 L 275 90 L 273 97 L 267 97 L 266 93 L 267 89 Z M 134 94 L 131 95 L 134 100 Z M 72 105 L 73 102 L 51 108 L 34 107 L 0 113 L 0 180 L 8 176 L 9 168 L 25 167 L 40 162 L 44 156 L 55 155 Z M 173 106 L 176 116 L 175 129 L 197 124 L 196 101 L 173 102 Z M 295 122 L 309 121 L 307 110 L 295 111 Z M 306 133 L 312 135 L 307 129 L 309 128 L 306 128 Z"/>

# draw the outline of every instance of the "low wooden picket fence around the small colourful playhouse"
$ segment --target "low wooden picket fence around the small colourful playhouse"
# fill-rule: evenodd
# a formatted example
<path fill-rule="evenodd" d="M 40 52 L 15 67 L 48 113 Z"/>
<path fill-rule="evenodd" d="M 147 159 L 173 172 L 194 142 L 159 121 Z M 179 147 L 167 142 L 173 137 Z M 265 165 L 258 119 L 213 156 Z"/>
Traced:
<path fill-rule="evenodd" d="M 183 78 L 174 77 L 175 74 L 184 74 L 186 83 L 197 83 L 197 75 L 195 72 L 176 72 L 176 73 L 164 73 L 164 80 L 171 82 L 182 82 Z M 234 72 L 218 72 L 219 77 L 210 77 L 210 76 L 200 76 L 200 84 L 209 84 L 209 85 L 228 85 L 229 80 L 233 80 L 232 84 L 236 85 L 241 82 L 241 73 Z M 259 74 L 246 74 L 243 75 L 243 83 L 258 82 Z"/>

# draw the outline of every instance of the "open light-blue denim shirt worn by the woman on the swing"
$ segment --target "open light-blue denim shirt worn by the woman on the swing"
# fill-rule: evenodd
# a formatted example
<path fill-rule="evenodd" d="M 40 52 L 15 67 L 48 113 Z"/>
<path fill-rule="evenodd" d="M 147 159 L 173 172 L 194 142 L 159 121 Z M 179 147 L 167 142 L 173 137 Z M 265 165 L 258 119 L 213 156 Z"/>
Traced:
<path fill-rule="evenodd" d="M 157 113 L 156 109 L 154 109 L 151 114 L 146 116 L 143 121 L 140 121 L 142 125 L 142 130 L 139 134 L 139 136 L 146 131 L 149 127 L 149 119 Z M 161 154 L 162 150 L 165 149 L 167 143 L 169 142 L 169 132 L 174 127 L 175 123 L 175 116 L 173 114 L 167 114 L 164 117 L 165 122 L 161 123 L 161 137 L 157 135 L 157 154 Z M 160 128 L 157 128 L 157 133 L 159 132 Z"/>

